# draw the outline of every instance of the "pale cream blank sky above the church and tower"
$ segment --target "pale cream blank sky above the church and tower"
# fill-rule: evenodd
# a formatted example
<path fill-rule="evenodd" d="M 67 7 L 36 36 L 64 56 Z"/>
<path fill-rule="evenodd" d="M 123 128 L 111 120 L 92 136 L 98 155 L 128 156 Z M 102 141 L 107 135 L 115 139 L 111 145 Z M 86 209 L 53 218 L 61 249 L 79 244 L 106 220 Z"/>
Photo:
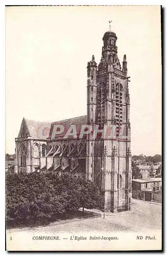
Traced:
<path fill-rule="evenodd" d="M 161 154 L 159 6 L 6 7 L 6 153 L 23 117 L 86 115 L 87 62 L 100 62 L 109 20 L 127 55 L 132 155 Z"/>

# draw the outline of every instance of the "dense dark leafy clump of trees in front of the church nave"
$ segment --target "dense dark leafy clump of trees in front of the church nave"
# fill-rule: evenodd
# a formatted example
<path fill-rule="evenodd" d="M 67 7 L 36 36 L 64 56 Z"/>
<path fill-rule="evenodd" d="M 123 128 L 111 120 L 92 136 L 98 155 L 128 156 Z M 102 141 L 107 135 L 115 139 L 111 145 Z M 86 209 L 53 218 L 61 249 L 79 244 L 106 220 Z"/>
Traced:
<path fill-rule="evenodd" d="M 52 221 L 67 211 L 100 206 L 90 180 L 56 173 L 6 174 L 7 225 Z"/>

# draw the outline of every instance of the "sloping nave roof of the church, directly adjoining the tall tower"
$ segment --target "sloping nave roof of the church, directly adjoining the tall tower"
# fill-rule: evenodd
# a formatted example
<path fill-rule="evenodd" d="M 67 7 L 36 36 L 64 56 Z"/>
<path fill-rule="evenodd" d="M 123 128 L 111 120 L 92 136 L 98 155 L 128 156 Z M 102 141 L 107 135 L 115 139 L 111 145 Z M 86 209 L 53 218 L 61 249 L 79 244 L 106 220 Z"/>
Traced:
<path fill-rule="evenodd" d="M 53 122 L 51 124 L 49 138 L 52 137 L 54 125 L 62 125 L 64 127 L 64 131 L 60 135 L 56 135 L 55 137 L 64 136 L 66 134 L 66 132 L 68 131 L 71 124 L 76 125 L 77 134 L 80 134 L 81 126 L 82 126 L 82 124 L 86 124 L 86 121 L 87 121 L 86 119 L 87 119 L 87 116 L 79 116 L 79 117 L 73 117 L 73 118 Z"/>

